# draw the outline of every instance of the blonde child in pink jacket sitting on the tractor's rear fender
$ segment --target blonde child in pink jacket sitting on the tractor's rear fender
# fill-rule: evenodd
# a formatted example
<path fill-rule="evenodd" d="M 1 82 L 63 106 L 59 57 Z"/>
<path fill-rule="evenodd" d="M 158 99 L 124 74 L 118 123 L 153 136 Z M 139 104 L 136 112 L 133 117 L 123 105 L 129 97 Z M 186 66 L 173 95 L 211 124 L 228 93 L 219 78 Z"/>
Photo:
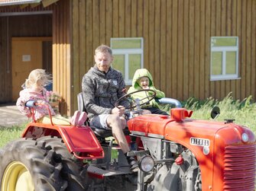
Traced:
<path fill-rule="evenodd" d="M 25 81 L 24 90 L 20 91 L 20 97 L 16 103 L 18 110 L 30 118 L 32 116 L 31 109 L 26 107 L 25 103 L 27 103 L 28 100 L 35 100 L 37 103 L 44 103 L 49 107 L 53 124 L 70 125 L 71 123 L 73 126 L 83 126 L 87 119 L 87 114 L 85 112 L 79 113 L 79 111 L 76 111 L 71 120 L 66 119 L 63 116 L 57 116 L 56 113 L 54 113 L 53 108 L 50 106 L 46 97 L 47 90 L 44 88 L 44 86 L 50 82 L 50 75 L 48 75 L 44 69 L 34 69 L 31 71 L 28 75 L 28 79 Z M 47 107 L 44 105 L 37 105 L 35 108 L 34 119 L 37 122 L 50 123 Z"/>

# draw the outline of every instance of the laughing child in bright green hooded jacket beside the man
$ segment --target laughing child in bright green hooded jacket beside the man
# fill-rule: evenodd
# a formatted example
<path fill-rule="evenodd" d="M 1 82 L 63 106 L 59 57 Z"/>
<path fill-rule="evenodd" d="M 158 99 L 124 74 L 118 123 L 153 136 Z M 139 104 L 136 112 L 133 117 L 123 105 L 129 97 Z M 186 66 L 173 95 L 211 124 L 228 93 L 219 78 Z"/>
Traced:
<path fill-rule="evenodd" d="M 136 70 L 136 72 L 134 73 L 134 77 L 132 79 L 132 86 L 131 88 L 129 88 L 128 94 L 134 91 L 142 90 L 142 89 L 155 91 L 156 92 L 155 98 L 165 97 L 165 94 L 163 91 L 159 91 L 157 90 L 157 88 L 154 87 L 152 75 L 150 72 L 148 72 L 146 68 L 141 68 Z M 147 94 L 149 94 L 148 96 L 150 96 L 151 91 L 148 91 Z M 141 100 L 142 98 L 146 97 L 146 95 L 144 91 L 139 91 L 135 94 L 132 94 L 131 97 L 133 99 L 138 98 Z M 154 113 L 154 114 L 169 115 L 165 111 L 160 110 L 159 104 L 154 99 L 151 100 L 150 103 L 143 105 L 142 108 L 144 110 L 150 110 L 151 113 Z"/>

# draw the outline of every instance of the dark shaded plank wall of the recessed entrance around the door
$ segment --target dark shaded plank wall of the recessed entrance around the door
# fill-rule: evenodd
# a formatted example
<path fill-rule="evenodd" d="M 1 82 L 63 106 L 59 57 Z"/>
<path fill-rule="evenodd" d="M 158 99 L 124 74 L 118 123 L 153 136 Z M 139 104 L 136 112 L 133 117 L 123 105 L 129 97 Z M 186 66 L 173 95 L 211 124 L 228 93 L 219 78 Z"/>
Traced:
<path fill-rule="evenodd" d="M 28 9 L 25 9 L 28 11 Z M 39 11 L 38 8 L 35 9 Z M 23 12 L 19 8 L 1 8 L 0 11 Z M 11 102 L 12 76 L 11 76 L 11 37 L 51 37 L 51 14 L 10 15 L 0 17 L 0 103 Z M 47 53 L 51 44 L 45 44 L 44 65 L 47 72 L 51 72 L 51 54 Z M 50 67 L 50 68 L 49 68 Z M 25 79 L 24 79 L 25 80 Z"/>

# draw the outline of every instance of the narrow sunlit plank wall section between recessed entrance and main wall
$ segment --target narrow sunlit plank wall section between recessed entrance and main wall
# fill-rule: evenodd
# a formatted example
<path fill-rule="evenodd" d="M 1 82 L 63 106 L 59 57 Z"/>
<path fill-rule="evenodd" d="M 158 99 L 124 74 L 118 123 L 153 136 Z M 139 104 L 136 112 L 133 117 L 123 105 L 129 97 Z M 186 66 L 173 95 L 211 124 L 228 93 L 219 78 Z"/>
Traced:
<path fill-rule="evenodd" d="M 70 1 L 61 0 L 53 7 L 53 90 L 63 97 L 60 113 L 69 116 L 71 75 L 76 76 L 70 67 L 70 51 Z"/>

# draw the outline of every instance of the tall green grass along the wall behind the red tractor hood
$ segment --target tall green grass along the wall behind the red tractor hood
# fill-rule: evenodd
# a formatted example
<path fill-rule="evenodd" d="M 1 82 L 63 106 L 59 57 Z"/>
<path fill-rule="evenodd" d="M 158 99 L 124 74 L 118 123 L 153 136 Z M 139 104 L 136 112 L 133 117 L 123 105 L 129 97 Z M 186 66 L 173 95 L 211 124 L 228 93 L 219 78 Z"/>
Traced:
<path fill-rule="evenodd" d="M 198 100 L 190 97 L 182 102 L 182 106 L 186 110 L 193 110 L 191 118 L 212 120 L 212 107 L 218 106 L 220 109 L 219 116 L 216 121 L 224 121 L 224 119 L 235 119 L 234 123 L 247 126 L 256 135 L 256 103 L 252 102 L 252 97 L 244 100 L 234 100 L 232 94 L 228 94 L 223 100 L 215 100 L 209 97 L 206 100 Z M 170 107 L 161 106 L 164 110 L 170 110 Z M 169 112 L 169 111 L 168 111 Z"/>

